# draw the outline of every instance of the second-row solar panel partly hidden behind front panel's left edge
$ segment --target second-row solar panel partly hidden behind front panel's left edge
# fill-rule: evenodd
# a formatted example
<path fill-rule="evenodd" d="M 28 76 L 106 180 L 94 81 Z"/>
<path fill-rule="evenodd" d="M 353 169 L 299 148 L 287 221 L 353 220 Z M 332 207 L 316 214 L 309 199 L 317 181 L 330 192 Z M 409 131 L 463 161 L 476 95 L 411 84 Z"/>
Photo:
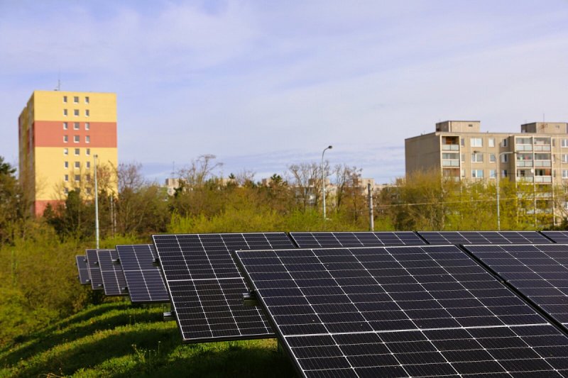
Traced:
<path fill-rule="evenodd" d="M 294 248 L 285 233 L 153 235 L 184 343 L 273 337 L 229 251 Z"/>

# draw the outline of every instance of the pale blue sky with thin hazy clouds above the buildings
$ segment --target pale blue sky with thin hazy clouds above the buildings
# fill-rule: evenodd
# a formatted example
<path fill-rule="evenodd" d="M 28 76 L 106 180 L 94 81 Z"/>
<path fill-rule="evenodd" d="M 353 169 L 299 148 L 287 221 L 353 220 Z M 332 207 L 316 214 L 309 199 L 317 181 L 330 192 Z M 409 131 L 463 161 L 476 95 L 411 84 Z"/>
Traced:
<path fill-rule="evenodd" d="M 568 121 L 568 1 L 0 0 L 0 155 L 31 92 L 113 91 L 119 161 L 404 174 L 404 140 Z"/>

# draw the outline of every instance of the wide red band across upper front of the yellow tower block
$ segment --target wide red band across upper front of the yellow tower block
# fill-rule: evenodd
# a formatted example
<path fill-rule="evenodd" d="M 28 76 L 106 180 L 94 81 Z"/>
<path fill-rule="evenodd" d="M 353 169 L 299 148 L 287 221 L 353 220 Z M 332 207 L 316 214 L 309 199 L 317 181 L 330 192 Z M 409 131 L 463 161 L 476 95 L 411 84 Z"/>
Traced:
<path fill-rule="evenodd" d="M 35 121 L 35 147 L 103 147 L 116 148 L 116 122 L 89 122 L 89 130 L 84 129 L 84 122 L 79 123 L 79 130 L 73 129 L 73 122 L 67 122 L 67 130 L 62 121 Z M 67 135 L 67 143 L 63 141 Z M 75 143 L 79 135 L 79 143 Z M 90 143 L 85 142 L 89 135 Z"/>

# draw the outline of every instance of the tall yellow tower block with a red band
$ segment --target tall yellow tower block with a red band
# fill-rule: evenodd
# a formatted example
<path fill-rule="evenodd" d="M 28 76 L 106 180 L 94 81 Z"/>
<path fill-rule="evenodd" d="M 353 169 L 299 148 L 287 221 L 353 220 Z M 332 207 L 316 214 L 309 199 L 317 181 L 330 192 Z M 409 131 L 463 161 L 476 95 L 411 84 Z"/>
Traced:
<path fill-rule="evenodd" d="M 33 91 L 18 118 L 18 140 L 19 177 L 36 215 L 75 188 L 89 198 L 94 155 L 97 165 L 118 164 L 116 94 Z"/>

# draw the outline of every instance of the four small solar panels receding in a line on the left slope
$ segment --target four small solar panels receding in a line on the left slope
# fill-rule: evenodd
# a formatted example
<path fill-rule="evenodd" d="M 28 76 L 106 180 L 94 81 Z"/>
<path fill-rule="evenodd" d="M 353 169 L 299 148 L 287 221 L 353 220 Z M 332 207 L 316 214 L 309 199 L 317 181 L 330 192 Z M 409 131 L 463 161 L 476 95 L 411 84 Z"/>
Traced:
<path fill-rule="evenodd" d="M 75 257 L 81 284 L 108 296 L 129 295 L 132 303 L 164 303 L 165 289 L 153 245 L 117 245 L 116 250 L 87 250 Z"/>

